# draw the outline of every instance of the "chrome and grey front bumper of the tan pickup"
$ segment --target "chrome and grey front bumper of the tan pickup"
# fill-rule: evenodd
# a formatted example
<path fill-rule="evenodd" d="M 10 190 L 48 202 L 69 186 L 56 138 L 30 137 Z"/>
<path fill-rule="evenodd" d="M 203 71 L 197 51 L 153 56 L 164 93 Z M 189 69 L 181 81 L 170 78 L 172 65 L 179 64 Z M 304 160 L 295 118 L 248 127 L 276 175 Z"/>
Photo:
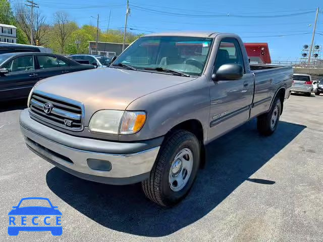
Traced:
<path fill-rule="evenodd" d="M 28 109 L 20 114 L 20 127 L 27 147 L 40 157 L 80 178 L 112 185 L 133 184 L 148 178 L 163 142 L 163 137 L 140 143 L 75 137 L 36 122 L 30 118 Z M 100 170 L 100 165 L 98 169 L 90 168 L 90 160 L 110 164 L 110 170 Z"/>

